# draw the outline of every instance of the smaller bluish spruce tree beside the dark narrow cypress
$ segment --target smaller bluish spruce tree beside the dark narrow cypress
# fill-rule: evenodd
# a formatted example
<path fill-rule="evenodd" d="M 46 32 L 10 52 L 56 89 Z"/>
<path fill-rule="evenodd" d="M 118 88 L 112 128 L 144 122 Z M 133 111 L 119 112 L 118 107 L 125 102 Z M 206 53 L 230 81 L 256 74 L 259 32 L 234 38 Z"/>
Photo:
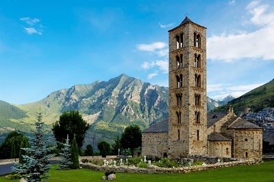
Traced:
<path fill-rule="evenodd" d="M 66 138 L 66 142 L 62 143 L 62 149 L 60 153 L 60 165 L 58 169 L 67 169 L 73 164 L 71 162 L 71 145 L 69 144 L 69 135 Z"/>

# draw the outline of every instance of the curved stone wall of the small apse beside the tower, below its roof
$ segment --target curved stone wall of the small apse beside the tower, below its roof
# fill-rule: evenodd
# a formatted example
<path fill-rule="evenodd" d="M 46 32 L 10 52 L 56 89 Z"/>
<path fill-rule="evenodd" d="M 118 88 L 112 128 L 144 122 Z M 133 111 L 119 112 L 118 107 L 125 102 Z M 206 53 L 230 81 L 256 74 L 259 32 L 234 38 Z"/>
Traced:
<path fill-rule="evenodd" d="M 209 141 L 208 155 L 215 157 L 232 157 L 231 141 Z"/>

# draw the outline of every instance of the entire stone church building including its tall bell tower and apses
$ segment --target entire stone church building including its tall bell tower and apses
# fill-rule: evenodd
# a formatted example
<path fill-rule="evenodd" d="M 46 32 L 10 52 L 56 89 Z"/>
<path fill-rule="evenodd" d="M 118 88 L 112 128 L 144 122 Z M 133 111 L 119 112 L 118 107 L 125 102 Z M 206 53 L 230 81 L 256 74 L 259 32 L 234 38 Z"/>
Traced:
<path fill-rule="evenodd" d="M 186 16 L 169 31 L 169 119 L 142 132 L 142 155 L 262 159 L 262 128 L 206 102 L 206 27 Z"/>

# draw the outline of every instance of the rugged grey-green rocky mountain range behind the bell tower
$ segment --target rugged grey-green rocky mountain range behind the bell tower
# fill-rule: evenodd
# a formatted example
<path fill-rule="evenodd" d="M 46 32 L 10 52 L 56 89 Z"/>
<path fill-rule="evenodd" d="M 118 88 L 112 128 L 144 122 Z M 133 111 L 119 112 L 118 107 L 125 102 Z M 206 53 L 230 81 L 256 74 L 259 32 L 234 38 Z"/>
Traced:
<path fill-rule="evenodd" d="M 91 127 L 86 143 L 105 139 L 112 141 L 127 125 L 149 127 L 169 116 L 169 88 L 151 85 L 137 78 L 121 74 L 108 81 L 74 85 L 47 95 L 44 99 L 22 105 L 0 102 L 0 132 L 21 130 L 31 132 L 36 112 L 41 110 L 43 121 L 49 127 L 62 112 L 79 110 Z M 228 99 L 229 100 L 229 99 Z M 226 102 L 208 97 L 208 110 Z M 1 134 L 1 133 L 0 133 Z M 0 138 L 1 140 L 1 138 Z"/>

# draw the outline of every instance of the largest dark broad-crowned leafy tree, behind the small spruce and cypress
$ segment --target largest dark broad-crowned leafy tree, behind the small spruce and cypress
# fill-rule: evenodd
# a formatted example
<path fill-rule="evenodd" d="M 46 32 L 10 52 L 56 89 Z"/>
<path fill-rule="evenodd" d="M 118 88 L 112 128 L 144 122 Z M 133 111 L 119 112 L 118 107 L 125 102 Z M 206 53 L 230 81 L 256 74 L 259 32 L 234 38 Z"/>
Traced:
<path fill-rule="evenodd" d="M 66 135 L 69 134 L 71 141 L 75 135 L 79 148 L 83 146 L 86 131 L 90 125 L 84 121 L 82 115 L 77 110 L 64 112 L 59 121 L 53 124 L 53 134 L 58 142 L 65 142 Z"/>

